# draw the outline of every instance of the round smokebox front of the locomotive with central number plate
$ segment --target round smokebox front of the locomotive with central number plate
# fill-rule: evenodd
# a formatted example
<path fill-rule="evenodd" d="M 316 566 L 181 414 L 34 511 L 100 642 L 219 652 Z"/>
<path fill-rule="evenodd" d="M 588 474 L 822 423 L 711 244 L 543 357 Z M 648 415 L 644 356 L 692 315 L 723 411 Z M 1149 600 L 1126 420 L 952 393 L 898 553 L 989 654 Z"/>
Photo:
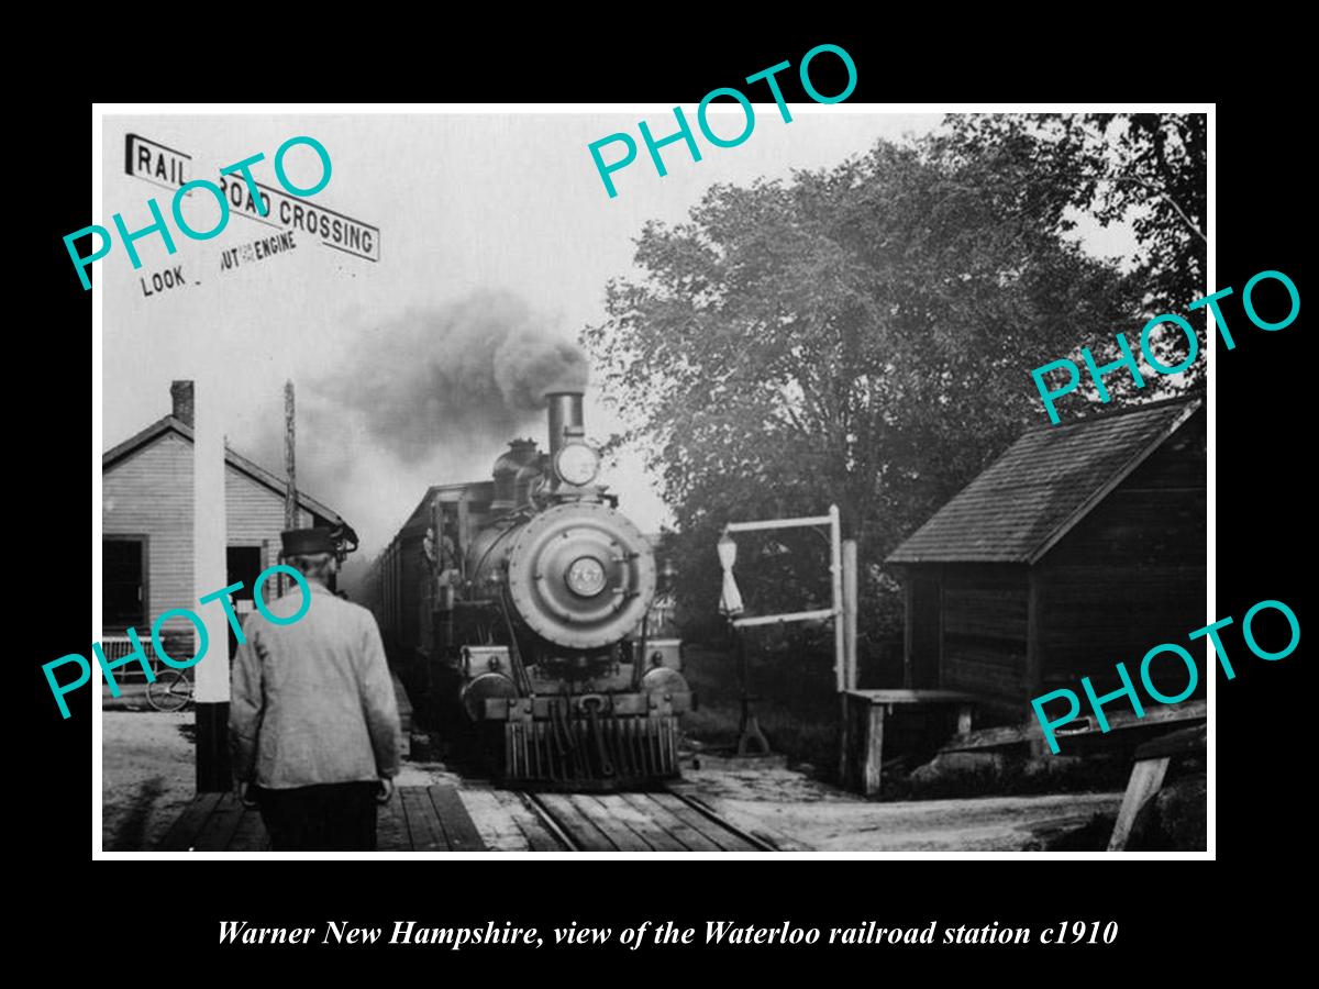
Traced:
<path fill-rule="evenodd" d="M 517 533 L 508 551 L 508 589 L 517 613 L 542 638 L 598 649 L 641 624 L 656 592 L 654 554 L 608 505 L 566 502 Z"/>

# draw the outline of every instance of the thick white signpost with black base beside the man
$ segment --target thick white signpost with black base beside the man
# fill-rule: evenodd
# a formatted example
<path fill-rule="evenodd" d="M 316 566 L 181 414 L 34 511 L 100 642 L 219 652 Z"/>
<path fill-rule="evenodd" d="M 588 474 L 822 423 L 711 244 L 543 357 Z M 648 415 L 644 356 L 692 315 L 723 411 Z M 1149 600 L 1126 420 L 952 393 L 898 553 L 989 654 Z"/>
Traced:
<path fill-rule="evenodd" d="M 228 582 L 228 520 L 224 505 L 223 386 L 199 378 L 193 405 L 193 600 L 215 593 Z M 230 702 L 228 618 L 219 601 L 195 604 L 206 628 L 206 655 L 193 667 L 197 700 L 198 790 L 230 786 L 226 723 Z"/>

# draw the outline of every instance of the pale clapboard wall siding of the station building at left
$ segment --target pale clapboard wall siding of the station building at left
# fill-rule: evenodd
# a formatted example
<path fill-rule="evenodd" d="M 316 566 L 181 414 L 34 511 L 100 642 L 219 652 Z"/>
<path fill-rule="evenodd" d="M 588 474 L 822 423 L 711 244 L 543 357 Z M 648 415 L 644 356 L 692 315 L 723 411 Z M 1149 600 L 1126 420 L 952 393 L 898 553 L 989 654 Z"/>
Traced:
<path fill-rule="evenodd" d="M 284 498 L 233 467 L 226 467 L 224 504 L 230 546 L 266 546 L 262 567 L 276 562 L 284 530 Z M 298 525 L 314 521 L 298 510 Z M 171 608 L 197 611 L 193 587 L 193 444 L 165 433 L 102 477 L 102 531 L 148 535 L 146 580 L 149 624 Z M 218 591 L 219 588 L 210 588 Z M 193 633 L 187 618 L 170 618 L 164 629 Z M 141 630 L 141 629 L 140 629 Z"/>

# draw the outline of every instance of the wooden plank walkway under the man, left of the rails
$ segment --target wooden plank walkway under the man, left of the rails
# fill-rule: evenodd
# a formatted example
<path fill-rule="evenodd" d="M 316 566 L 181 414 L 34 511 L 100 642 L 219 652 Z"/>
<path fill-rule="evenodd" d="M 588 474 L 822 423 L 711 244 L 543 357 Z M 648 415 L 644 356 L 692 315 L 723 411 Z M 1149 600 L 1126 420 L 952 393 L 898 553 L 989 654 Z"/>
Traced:
<path fill-rule="evenodd" d="M 539 839 L 545 845 L 545 840 Z M 484 852 L 485 843 L 452 786 L 401 786 L 376 818 L 381 852 Z M 554 844 L 558 848 L 558 844 Z M 161 840 L 162 852 L 268 852 L 256 807 L 232 793 L 198 794 Z"/>

